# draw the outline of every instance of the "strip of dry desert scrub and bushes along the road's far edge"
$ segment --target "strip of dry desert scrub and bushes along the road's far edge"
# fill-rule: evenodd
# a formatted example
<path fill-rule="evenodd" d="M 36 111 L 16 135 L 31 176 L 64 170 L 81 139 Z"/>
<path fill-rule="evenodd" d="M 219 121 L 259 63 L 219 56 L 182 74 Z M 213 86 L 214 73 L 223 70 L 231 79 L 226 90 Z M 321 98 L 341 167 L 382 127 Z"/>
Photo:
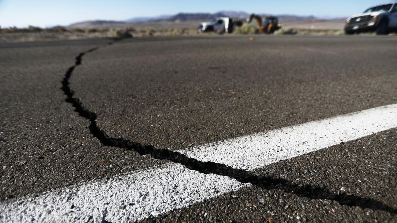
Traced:
<path fill-rule="evenodd" d="M 0 43 L 9 42 L 28 42 L 43 40 L 67 40 L 83 38 L 131 38 L 131 37 L 178 37 L 178 36 L 197 36 L 197 35 L 220 35 L 223 33 L 200 33 L 198 29 L 192 28 L 139 28 L 116 27 L 98 28 L 89 27 L 87 29 L 66 28 L 62 26 L 42 29 L 40 27 L 29 26 L 27 28 L 0 27 Z M 255 35 L 259 34 L 258 27 L 252 23 L 246 23 L 237 27 L 231 35 Z M 276 31 L 275 35 L 345 35 L 343 30 L 332 29 L 293 29 L 283 27 Z M 374 33 L 362 33 L 360 35 L 375 35 Z M 391 33 L 390 35 L 396 35 Z"/>

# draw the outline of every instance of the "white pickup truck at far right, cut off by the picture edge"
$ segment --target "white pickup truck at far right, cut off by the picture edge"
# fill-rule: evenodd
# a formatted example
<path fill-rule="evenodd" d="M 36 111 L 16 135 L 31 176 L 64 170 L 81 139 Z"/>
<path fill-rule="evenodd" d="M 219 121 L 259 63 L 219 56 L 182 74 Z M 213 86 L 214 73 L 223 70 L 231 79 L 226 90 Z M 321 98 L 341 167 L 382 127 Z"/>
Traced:
<path fill-rule="evenodd" d="M 374 6 L 347 19 L 345 25 L 347 35 L 367 31 L 375 31 L 377 35 L 387 35 L 391 31 L 397 31 L 397 3 Z"/>

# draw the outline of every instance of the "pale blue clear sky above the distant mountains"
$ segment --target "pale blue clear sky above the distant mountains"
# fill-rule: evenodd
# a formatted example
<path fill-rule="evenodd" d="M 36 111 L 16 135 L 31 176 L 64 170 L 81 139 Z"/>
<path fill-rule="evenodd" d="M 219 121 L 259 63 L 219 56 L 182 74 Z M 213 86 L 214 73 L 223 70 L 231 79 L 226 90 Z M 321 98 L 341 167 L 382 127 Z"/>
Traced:
<path fill-rule="evenodd" d="M 178 12 L 213 13 L 220 10 L 344 17 L 382 3 L 384 1 L 377 0 L 0 0 L 0 25 L 48 27 L 94 19 L 124 20 Z"/>

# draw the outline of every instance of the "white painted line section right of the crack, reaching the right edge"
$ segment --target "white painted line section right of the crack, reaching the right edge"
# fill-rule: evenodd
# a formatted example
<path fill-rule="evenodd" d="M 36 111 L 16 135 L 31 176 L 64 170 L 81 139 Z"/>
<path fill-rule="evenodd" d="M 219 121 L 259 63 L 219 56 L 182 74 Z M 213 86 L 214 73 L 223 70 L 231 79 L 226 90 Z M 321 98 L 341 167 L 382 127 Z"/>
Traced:
<path fill-rule="evenodd" d="M 397 104 L 180 151 L 189 158 L 256 169 L 397 127 Z"/>

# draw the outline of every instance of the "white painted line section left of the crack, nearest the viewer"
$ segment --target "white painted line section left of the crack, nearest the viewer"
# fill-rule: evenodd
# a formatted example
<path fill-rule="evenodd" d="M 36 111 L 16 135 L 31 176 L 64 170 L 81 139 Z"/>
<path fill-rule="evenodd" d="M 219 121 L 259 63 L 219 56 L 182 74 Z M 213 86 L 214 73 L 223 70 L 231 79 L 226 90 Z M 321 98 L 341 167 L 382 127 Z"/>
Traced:
<path fill-rule="evenodd" d="M 3 203 L 0 222 L 131 222 L 248 185 L 172 163 Z"/>

